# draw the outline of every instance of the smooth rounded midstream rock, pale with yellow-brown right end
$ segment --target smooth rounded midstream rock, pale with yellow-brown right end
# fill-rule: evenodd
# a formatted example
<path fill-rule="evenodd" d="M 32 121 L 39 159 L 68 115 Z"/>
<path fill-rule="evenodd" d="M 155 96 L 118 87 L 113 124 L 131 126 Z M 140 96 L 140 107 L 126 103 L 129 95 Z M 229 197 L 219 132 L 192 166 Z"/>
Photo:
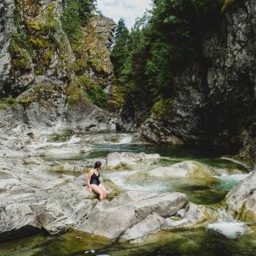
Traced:
<path fill-rule="evenodd" d="M 168 177 L 180 176 L 187 178 L 206 178 L 214 175 L 213 171 L 200 162 L 185 161 L 169 167 L 157 167 L 148 172 L 149 176 Z"/>

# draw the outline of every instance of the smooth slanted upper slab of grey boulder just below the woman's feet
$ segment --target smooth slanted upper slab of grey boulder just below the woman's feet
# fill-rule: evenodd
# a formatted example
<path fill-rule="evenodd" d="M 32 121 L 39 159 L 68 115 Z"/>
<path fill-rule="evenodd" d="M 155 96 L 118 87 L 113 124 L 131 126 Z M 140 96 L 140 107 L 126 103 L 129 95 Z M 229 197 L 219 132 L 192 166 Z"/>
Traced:
<path fill-rule="evenodd" d="M 151 214 L 170 217 L 189 200 L 181 193 L 126 192 L 111 202 L 99 203 L 79 227 L 80 231 L 114 239 Z"/>

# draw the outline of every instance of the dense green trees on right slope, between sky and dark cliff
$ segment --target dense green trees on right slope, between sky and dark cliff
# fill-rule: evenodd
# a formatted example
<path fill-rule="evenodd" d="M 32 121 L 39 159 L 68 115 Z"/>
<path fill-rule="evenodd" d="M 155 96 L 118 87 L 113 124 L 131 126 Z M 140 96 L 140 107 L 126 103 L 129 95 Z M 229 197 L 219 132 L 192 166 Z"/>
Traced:
<path fill-rule="evenodd" d="M 127 47 L 117 35 L 116 45 L 120 39 L 122 47 L 113 48 L 114 73 L 127 104 L 148 113 L 163 102 L 171 108 L 165 100 L 175 98 L 173 78 L 200 58 L 203 37 L 219 29 L 221 7 L 219 0 L 153 0 L 152 10 L 127 36 Z"/>

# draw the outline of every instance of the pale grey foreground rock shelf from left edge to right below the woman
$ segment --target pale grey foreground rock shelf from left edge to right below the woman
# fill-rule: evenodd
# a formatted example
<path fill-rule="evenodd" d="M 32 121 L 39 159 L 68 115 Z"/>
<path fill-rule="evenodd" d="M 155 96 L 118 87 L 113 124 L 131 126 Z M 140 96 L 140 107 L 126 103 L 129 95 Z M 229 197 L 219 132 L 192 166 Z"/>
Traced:
<path fill-rule="evenodd" d="M 200 208 L 180 193 L 125 192 L 99 203 L 89 199 L 84 175 L 56 178 L 40 170 L 23 172 L 8 160 L 1 162 L 1 170 L 0 241 L 40 230 L 57 234 L 70 227 L 130 241 L 159 230 L 206 222 Z M 175 220 L 170 218 L 174 216 Z"/>

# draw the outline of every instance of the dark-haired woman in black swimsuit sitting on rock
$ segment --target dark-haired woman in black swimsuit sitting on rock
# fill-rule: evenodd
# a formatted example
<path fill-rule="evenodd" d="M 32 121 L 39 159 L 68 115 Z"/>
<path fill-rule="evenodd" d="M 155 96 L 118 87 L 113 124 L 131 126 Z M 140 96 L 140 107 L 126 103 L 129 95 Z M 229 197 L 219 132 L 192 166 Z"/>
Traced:
<path fill-rule="evenodd" d="M 94 169 L 92 169 L 87 175 L 87 184 L 89 187 L 89 191 L 94 191 L 99 194 L 99 200 L 107 198 L 107 189 L 105 189 L 105 187 L 99 181 L 101 166 L 101 162 L 96 162 L 94 165 Z"/>

